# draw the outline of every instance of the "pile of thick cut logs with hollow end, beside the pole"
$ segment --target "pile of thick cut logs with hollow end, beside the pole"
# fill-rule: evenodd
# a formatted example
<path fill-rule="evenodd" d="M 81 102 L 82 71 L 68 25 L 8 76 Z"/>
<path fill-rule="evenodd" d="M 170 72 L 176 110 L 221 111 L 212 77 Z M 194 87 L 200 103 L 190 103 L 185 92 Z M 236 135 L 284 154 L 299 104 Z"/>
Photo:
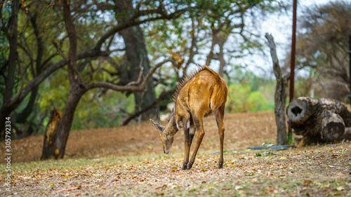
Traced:
<path fill-rule="evenodd" d="M 347 138 L 345 128 L 351 127 L 350 111 L 345 104 L 332 99 L 299 97 L 286 108 L 286 116 L 293 132 L 303 136 L 298 147 L 342 140 Z"/>

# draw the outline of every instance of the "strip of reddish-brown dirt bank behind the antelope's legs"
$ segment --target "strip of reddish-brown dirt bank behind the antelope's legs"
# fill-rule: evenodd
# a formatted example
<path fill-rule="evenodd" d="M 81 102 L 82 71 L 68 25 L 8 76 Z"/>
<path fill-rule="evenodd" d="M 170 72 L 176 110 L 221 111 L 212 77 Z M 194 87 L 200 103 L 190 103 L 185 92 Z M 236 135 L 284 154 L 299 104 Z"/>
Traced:
<path fill-rule="evenodd" d="M 164 123 L 166 124 L 166 122 Z M 204 119 L 205 137 L 200 151 L 219 149 L 219 136 L 214 116 Z M 225 114 L 225 149 L 261 146 L 275 142 L 276 126 L 272 111 Z M 171 152 L 184 149 L 183 130 L 175 135 Z M 13 140 L 11 149 L 14 162 L 40 160 L 44 135 Z M 4 152 L 5 147 L 1 146 Z M 161 154 L 159 131 L 150 121 L 117 128 L 73 130 L 69 134 L 65 158 L 97 158 L 102 156 L 136 156 Z M 0 163 L 5 163 L 1 160 Z"/>

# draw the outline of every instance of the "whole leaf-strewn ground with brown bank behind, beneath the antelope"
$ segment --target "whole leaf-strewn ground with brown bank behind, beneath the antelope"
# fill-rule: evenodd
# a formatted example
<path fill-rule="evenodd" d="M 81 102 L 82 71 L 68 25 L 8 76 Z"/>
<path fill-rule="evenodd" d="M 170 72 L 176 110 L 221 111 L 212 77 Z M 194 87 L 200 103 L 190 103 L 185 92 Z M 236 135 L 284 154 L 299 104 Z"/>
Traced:
<path fill-rule="evenodd" d="M 44 137 L 13 140 L 8 196 L 350 196 L 351 143 L 317 145 L 256 156 L 227 151 L 218 165 L 218 134 L 213 116 L 192 170 L 183 163 L 183 133 L 171 153 L 161 154 L 151 123 L 72 131 L 65 159 L 39 161 Z M 225 149 L 275 141 L 272 111 L 225 115 Z M 0 147 L 4 152 L 4 146 Z M 6 163 L 1 160 L 1 182 Z"/>

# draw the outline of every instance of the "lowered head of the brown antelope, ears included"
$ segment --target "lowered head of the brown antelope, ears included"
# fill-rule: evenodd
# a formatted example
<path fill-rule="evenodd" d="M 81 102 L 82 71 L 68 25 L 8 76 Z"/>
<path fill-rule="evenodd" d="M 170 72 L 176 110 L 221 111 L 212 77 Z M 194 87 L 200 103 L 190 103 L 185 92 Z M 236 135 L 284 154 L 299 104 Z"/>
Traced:
<path fill-rule="evenodd" d="M 159 138 L 162 142 L 165 154 L 169 153 L 169 150 L 171 149 L 172 144 L 173 144 L 173 137 L 179 130 L 177 127 L 175 117 L 176 117 L 175 112 L 174 112 L 174 110 L 172 110 L 172 114 L 168 118 L 168 123 L 166 125 L 166 128 L 163 125 L 161 125 L 161 123 L 159 121 L 159 114 L 157 113 L 157 110 L 156 110 L 157 121 L 153 121 L 152 119 L 150 119 L 152 124 L 154 124 L 154 126 L 157 128 L 157 130 L 159 130 Z"/>

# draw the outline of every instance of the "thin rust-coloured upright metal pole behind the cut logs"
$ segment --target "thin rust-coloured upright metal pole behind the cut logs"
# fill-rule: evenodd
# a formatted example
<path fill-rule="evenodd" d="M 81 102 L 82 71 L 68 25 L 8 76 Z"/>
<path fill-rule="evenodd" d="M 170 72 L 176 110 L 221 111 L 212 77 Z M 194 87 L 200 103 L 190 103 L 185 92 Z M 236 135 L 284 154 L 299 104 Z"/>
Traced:
<path fill-rule="evenodd" d="M 293 100 L 293 90 L 295 81 L 295 50 L 296 50 L 296 7 L 298 0 L 293 0 L 293 35 L 291 36 L 291 71 L 290 71 L 290 94 L 289 102 Z"/>

